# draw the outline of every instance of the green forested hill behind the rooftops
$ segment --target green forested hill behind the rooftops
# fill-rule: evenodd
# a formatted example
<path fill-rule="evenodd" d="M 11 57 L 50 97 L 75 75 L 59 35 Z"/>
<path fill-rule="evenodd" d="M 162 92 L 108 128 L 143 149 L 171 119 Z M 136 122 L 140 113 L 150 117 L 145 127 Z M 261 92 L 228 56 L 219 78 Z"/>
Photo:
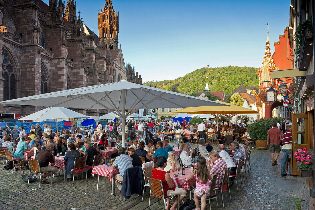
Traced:
<path fill-rule="evenodd" d="M 164 81 L 149 81 L 144 85 L 155 87 L 169 84 L 165 90 L 174 91 L 175 88 L 180 93 L 196 96 L 196 93 L 203 92 L 206 85 L 206 77 L 208 77 L 208 85 L 210 91 L 225 91 L 225 94 L 230 94 L 239 85 L 244 86 L 259 86 L 258 76 L 256 72 L 259 68 L 253 67 L 238 67 L 226 66 L 218 68 L 202 68 L 194 70 L 183 77 L 175 80 Z"/>

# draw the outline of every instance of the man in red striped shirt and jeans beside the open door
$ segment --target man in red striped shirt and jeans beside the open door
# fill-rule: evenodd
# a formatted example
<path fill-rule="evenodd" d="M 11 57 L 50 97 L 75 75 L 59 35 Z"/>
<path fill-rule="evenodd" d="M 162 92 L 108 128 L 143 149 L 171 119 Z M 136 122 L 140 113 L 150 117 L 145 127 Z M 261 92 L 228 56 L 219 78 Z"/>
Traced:
<path fill-rule="evenodd" d="M 285 173 L 286 169 L 288 168 L 286 163 L 287 159 L 291 159 L 292 157 L 292 125 L 289 123 L 287 126 L 285 126 L 285 129 L 287 130 L 283 136 L 282 136 L 282 161 L 281 161 L 281 177 L 287 176 Z M 297 134 L 304 133 L 304 123 L 301 124 L 301 131 L 298 131 Z M 292 176 L 291 174 L 291 162 L 289 161 L 289 176 Z"/>

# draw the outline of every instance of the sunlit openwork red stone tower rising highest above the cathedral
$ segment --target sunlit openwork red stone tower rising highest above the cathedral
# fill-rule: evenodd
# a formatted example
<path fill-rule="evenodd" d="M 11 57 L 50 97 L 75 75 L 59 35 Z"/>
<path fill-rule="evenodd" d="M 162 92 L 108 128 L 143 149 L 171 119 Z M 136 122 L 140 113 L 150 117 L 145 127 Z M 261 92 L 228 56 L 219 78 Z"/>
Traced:
<path fill-rule="evenodd" d="M 100 43 L 110 50 L 118 50 L 118 20 L 119 13 L 114 10 L 112 0 L 106 0 L 104 9 L 99 11 L 98 29 Z"/>

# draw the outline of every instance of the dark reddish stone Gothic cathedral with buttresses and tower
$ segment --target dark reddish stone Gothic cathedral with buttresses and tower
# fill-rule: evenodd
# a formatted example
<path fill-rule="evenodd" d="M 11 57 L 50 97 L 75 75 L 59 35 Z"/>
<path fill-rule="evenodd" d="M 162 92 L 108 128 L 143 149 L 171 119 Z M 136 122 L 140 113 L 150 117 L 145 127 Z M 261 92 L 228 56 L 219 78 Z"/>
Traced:
<path fill-rule="evenodd" d="M 99 36 L 83 23 L 74 0 L 49 0 L 49 5 L 0 0 L 0 10 L 0 101 L 120 80 L 142 84 L 118 45 L 119 13 L 111 0 L 99 11 Z M 27 115 L 42 108 L 6 104 L 0 112 Z"/>

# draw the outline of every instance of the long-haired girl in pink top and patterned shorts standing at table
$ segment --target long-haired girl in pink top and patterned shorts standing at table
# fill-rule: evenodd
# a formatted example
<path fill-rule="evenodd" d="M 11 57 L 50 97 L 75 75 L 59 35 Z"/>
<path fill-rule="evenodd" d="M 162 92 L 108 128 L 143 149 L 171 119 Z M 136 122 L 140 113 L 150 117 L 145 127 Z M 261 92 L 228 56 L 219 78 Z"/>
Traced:
<path fill-rule="evenodd" d="M 193 176 L 196 176 L 196 188 L 194 193 L 195 205 L 196 208 L 192 210 L 200 210 L 199 208 L 199 198 L 201 197 L 201 210 L 206 209 L 206 199 L 210 193 L 210 181 L 211 175 L 210 171 L 207 169 L 207 162 L 204 157 L 198 157 L 197 159 L 197 167 L 191 173 L 191 175 L 187 178 L 187 180 L 191 179 Z"/>

